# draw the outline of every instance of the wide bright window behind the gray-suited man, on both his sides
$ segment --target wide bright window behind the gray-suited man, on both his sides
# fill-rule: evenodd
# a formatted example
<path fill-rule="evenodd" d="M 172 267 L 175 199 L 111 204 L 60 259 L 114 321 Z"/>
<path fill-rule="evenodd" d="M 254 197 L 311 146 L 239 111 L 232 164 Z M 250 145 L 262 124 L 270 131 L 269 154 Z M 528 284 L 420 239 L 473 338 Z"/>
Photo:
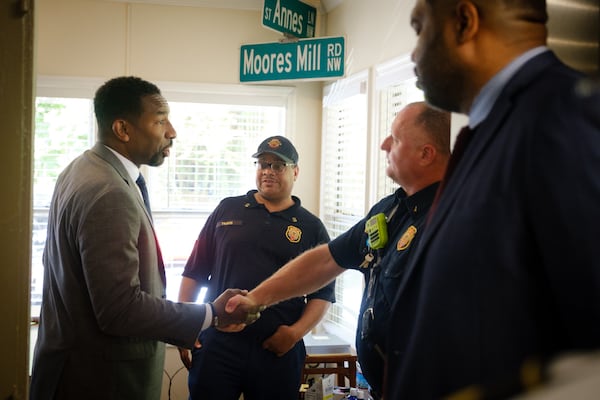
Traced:
<path fill-rule="evenodd" d="M 93 95 L 102 82 L 38 80 L 34 150 L 31 315 L 39 315 L 48 207 L 58 174 L 95 142 Z M 181 272 L 204 222 L 226 196 L 254 188 L 251 155 L 264 137 L 286 132 L 293 89 L 237 85 L 158 85 L 177 138 L 158 168 L 143 167 L 176 300 Z M 201 299 L 199 299 L 201 300 Z"/>

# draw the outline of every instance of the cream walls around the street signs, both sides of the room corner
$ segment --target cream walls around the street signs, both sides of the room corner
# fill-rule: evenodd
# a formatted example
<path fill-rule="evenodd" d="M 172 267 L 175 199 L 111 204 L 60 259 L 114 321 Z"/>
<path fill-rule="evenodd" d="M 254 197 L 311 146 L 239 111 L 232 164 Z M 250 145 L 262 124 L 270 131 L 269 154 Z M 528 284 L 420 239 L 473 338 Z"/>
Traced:
<path fill-rule="evenodd" d="M 240 46 L 281 37 L 261 25 L 259 10 L 110 0 L 41 0 L 36 6 L 39 75 L 238 84 Z M 318 15 L 317 33 L 346 37 L 346 75 L 352 75 L 410 53 L 416 40 L 412 6 L 406 0 L 344 0 Z M 282 85 L 296 88 L 287 132 L 300 153 L 294 194 L 318 214 L 322 82 Z"/>

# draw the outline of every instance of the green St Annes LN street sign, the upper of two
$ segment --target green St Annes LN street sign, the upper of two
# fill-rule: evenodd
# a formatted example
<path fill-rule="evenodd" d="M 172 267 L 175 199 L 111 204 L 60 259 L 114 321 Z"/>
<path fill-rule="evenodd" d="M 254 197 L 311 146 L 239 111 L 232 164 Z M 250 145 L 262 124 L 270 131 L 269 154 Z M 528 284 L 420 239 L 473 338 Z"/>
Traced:
<path fill-rule="evenodd" d="M 300 0 L 264 0 L 262 23 L 297 38 L 315 36 L 317 9 Z"/>

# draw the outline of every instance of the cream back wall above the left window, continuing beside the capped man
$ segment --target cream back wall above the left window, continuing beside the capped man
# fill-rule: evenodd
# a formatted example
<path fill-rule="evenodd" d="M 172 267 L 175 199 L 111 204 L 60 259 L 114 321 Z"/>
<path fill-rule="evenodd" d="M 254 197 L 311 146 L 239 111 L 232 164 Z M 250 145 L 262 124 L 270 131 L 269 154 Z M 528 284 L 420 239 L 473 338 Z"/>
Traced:
<path fill-rule="evenodd" d="M 109 0 L 42 0 L 36 6 L 38 75 L 238 84 L 240 46 L 281 37 L 262 27 L 258 10 Z M 318 213 L 321 82 L 282 85 L 296 87 L 286 132 L 300 153 L 294 194 Z"/>

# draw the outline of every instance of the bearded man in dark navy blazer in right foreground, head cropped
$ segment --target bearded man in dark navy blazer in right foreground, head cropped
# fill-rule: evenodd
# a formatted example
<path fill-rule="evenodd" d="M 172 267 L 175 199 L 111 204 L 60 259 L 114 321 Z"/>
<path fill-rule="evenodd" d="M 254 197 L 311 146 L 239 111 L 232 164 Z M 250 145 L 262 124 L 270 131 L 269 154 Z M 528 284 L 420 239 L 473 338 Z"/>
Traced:
<path fill-rule="evenodd" d="M 546 20 L 543 0 L 416 2 L 418 84 L 472 133 L 393 307 L 386 400 L 506 398 L 600 347 L 600 93 Z"/>

